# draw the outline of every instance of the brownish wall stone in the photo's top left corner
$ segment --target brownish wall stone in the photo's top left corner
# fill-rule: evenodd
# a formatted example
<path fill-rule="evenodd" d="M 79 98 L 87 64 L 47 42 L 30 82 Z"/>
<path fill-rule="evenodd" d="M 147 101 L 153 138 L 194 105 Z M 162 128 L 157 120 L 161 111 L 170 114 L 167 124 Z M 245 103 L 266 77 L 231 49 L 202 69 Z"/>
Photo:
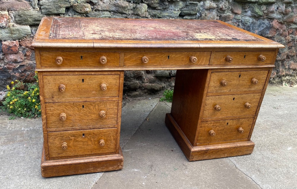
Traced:
<path fill-rule="evenodd" d="M 30 4 L 24 0 L 9 0 L 0 1 L 0 10 L 2 11 L 16 11 L 16 10 L 29 10 Z"/>

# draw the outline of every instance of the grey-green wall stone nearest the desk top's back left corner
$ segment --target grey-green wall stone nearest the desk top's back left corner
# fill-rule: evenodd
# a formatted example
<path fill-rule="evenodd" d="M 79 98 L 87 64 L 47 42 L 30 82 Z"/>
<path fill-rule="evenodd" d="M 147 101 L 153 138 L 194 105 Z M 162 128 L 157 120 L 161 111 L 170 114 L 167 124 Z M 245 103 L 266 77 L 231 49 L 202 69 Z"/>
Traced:
<path fill-rule="evenodd" d="M 39 25 L 42 17 L 45 17 L 41 12 L 36 10 L 18 11 L 13 16 L 17 24 L 23 25 Z"/>

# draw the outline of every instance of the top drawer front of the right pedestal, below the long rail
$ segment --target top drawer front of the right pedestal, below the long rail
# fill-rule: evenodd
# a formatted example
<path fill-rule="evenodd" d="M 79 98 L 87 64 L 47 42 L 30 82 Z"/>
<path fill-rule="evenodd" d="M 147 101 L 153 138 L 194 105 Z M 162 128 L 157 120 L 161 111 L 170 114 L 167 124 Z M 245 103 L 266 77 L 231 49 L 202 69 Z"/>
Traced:
<path fill-rule="evenodd" d="M 208 93 L 263 90 L 268 70 L 212 72 Z"/>

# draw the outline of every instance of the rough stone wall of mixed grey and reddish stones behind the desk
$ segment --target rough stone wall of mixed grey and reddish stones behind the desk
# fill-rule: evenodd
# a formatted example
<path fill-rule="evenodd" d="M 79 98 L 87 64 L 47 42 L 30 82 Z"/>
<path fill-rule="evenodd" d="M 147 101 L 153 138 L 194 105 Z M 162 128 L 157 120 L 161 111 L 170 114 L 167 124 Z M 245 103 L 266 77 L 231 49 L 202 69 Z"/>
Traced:
<path fill-rule="evenodd" d="M 44 16 L 222 20 L 285 45 L 270 82 L 294 84 L 296 13 L 296 0 L 2 0 L 0 91 L 3 95 L 13 80 L 33 80 L 35 60 L 30 44 Z M 125 72 L 124 92 L 138 96 L 173 88 L 175 73 Z"/>

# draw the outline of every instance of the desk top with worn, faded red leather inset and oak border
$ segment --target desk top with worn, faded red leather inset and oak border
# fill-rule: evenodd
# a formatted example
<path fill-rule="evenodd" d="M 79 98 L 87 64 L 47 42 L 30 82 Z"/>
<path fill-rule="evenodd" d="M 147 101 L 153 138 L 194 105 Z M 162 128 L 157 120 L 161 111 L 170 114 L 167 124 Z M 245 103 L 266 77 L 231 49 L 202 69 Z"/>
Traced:
<path fill-rule="evenodd" d="M 284 48 L 219 20 L 44 17 L 33 47 Z"/>

